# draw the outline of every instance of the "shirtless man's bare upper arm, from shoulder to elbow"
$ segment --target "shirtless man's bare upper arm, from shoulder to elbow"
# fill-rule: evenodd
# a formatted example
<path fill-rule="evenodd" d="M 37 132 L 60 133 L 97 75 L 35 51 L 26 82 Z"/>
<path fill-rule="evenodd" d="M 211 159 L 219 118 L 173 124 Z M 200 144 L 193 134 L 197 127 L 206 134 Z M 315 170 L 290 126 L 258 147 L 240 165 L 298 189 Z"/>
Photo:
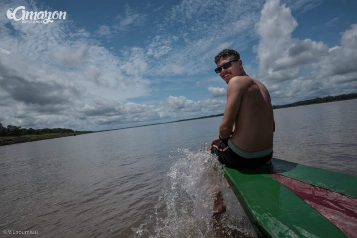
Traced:
<path fill-rule="evenodd" d="M 230 80 L 227 88 L 227 104 L 219 127 L 219 134 L 222 139 L 226 139 L 232 134 L 243 92 L 250 83 L 252 83 L 250 79 L 241 77 L 234 77 Z"/>

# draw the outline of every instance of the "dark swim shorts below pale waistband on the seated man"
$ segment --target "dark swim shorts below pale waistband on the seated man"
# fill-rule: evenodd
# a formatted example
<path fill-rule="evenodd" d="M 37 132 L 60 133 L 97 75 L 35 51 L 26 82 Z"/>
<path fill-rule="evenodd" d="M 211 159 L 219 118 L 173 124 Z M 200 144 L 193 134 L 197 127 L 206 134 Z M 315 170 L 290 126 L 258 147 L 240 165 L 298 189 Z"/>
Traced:
<path fill-rule="evenodd" d="M 267 156 L 246 159 L 237 155 L 228 145 L 228 139 L 213 143 L 211 153 L 218 155 L 218 161 L 229 167 L 252 167 L 264 165 L 273 157 L 273 152 Z"/>

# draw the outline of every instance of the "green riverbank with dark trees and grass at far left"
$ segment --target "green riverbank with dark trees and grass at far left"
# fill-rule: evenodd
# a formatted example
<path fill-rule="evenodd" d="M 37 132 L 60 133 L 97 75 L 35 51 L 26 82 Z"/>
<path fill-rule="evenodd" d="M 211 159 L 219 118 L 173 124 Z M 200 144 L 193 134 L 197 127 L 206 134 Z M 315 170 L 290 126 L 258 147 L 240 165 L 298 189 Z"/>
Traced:
<path fill-rule="evenodd" d="M 67 128 L 21 128 L 21 126 L 8 125 L 4 127 L 0 123 L 0 146 L 15 143 L 23 143 L 35 140 L 46 140 L 64 136 L 73 136 L 91 133 L 92 131 L 77 131 Z"/>

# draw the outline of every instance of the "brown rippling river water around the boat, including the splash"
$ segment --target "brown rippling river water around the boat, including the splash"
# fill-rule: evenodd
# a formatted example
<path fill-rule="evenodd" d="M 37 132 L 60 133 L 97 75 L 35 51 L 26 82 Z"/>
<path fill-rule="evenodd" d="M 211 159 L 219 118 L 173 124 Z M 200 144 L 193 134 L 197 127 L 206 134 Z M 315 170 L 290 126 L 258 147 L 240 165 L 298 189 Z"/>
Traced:
<path fill-rule="evenodd" d="M 274 157 L 357 176 L 357 100 L 274 110 Z M 205 147 L 222 117 L 0 147 L 0 234 L 255 237 Z M 217 169 L 218 168 L 218 169 Z"/>

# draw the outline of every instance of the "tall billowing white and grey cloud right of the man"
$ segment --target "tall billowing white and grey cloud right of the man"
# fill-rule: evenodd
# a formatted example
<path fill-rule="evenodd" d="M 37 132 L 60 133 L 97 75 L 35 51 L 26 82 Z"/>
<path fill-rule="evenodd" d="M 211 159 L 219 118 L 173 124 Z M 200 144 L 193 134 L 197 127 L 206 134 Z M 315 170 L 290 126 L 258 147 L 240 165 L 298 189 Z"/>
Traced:
<path fill-rule="evenodd" d="M 312 5 L 311 5 L 312 6 Z M 341 46 L 295 39 L 297 21 L 279 0 L 268 0 L 256 31 L 258 77 L 279 104 L 316 96 L 351 93 L 357 88 L 357 24 L 342 33 Z M 312 95 L 312 96 L 311 96 Z"/>

